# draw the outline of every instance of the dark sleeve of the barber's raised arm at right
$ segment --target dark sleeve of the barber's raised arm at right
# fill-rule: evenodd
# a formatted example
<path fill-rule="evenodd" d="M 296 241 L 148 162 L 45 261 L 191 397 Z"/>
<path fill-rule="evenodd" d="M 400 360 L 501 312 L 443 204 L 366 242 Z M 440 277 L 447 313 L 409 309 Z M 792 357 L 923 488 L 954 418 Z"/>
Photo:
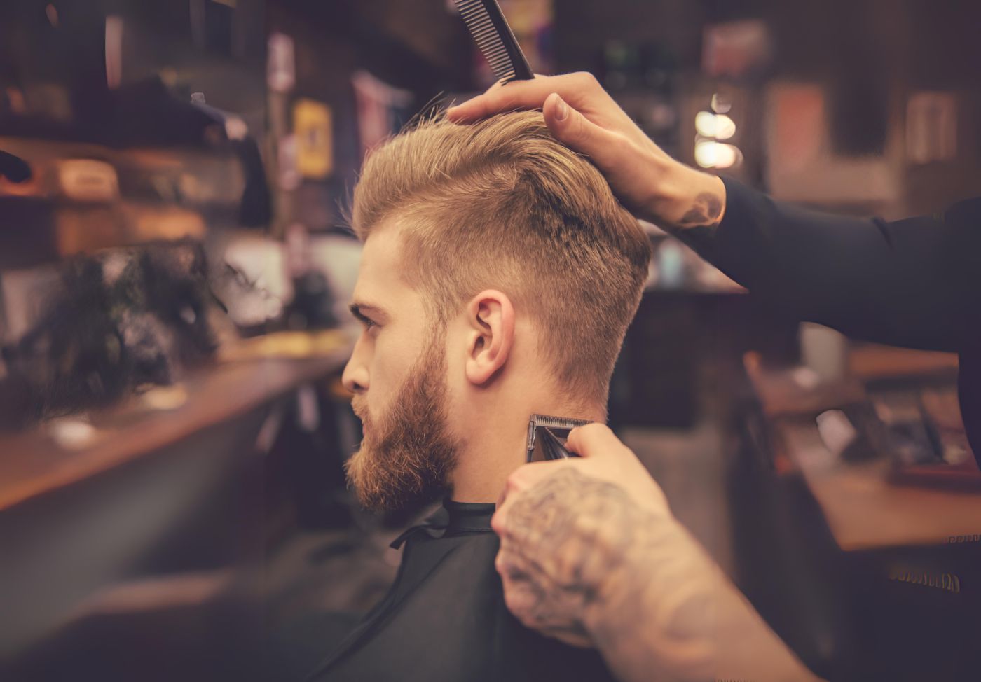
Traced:
<path fill-rule="evenodd" d="M 722 221 L 686 241 L 788 315 L 855 339 L 958 353 L 960 409 L 981 463 L 981 198 L 887 222 L 806 211 L 723 182 Z"/>

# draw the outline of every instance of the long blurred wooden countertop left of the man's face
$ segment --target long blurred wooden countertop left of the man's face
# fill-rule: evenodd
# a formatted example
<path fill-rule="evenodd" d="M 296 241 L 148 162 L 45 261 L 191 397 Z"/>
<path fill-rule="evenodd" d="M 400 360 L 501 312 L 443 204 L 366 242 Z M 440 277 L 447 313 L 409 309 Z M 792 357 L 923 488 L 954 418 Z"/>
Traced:
<path fill-rule="evenodd" d="M 260 337 L 226 352 L 180 385 L 93 414 L 0 436 L 0 512 L 160 450 L 338 371 L 350 336 L 332 331 Z"/>

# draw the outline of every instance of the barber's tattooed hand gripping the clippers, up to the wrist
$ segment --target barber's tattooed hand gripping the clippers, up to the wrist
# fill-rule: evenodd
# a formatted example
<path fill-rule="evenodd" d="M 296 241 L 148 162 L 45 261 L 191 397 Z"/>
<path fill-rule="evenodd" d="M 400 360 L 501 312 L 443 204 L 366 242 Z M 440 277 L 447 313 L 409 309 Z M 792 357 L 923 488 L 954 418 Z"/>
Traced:
<path fill-rule="evenodd" d="M 638 526 L 671 514 L 644 465 L 605 425 L 574 429 L 566 447 L 581 459 L 525 464 L 508 477 L 491 526 L 508 609 L 528 627 L 590 646 L 596 598 Z"/>

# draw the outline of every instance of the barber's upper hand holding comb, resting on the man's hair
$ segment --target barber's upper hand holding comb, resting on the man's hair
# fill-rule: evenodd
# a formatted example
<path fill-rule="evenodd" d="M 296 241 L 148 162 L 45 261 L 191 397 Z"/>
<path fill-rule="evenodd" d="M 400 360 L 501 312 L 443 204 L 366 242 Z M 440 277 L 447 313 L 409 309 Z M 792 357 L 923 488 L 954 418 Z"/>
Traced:
<path fill-rule="evenodd" d="M 519 109 L 542 109 L 555 138 L 588 156 L 638 218 L 665 229 L 721 219 L 726 196 L 722 181 L 665 154 L 590 73 L 497 83 L 446 115 L 465 123 Z"/>

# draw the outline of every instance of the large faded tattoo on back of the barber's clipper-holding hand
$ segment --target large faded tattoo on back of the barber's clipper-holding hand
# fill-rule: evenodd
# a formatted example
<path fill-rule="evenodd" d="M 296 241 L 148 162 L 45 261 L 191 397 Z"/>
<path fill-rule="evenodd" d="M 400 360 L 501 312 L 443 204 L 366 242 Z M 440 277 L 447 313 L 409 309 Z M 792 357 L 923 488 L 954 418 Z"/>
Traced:
<path fill-rule="evenodd" d="M 677 522 L 619 486 L 562 467 L 521 493 L 505 523 L 508 606 L 526 625 L 643 660 L 648 673 L 678 642 L 710 651 L 705 622 L 718 583 Z M 682 667 L 707 677 L 711 657 L 690 658 Z"/>

